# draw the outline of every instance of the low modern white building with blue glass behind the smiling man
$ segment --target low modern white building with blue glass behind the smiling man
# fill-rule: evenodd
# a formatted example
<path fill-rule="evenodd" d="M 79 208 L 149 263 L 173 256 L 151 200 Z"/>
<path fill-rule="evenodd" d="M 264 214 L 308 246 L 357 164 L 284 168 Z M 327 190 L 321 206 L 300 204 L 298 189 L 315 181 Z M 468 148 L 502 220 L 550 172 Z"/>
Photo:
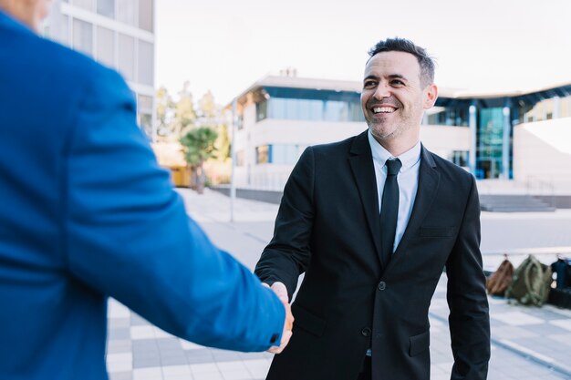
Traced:
<path fill-rule="evenodd" d="M 360 82 L 288 74 L 236 97 L 238 188 L 282 190 L 307 146 L 367 128 Z M 440 88 L 420 133 L 428 149 L 478 180 L 571 194 L 571 84 L 487 94 Z"/>

